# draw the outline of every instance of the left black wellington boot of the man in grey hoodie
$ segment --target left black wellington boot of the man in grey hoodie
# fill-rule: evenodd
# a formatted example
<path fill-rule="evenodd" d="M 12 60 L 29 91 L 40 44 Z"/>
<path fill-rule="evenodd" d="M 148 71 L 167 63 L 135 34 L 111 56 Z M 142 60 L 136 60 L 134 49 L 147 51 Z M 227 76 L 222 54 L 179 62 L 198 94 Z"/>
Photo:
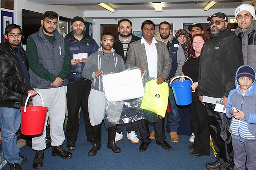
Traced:
<path fill-rule="evenodd" d="M 94 143 L 93 143 L 92 149 L 88 152 L 88 156 L 94 156 L 94 155 L 96 155 L 98 150 L 100 150 L 101 125 L 102 125 L 102 123 L 92 127 L 93 136 L 94 136 L 94 140 L 93 140 Z"/>

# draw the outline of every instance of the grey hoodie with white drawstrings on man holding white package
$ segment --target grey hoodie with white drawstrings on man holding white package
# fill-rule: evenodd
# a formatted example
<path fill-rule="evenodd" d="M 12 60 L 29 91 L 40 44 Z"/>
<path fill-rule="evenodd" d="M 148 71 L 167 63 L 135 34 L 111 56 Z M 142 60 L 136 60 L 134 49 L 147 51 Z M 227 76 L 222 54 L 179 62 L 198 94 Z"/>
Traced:
<path fill-rule="evenodd" d="M 120 55 L 115 53 L 113 48 L 110 53 L 106 53 L 102 51 L 102 47 L 88 57 L 82 71 L 82 76 L 88 80 L 92 80 L 92 89 L 103 92 L 102 76 L 95 77 L 97 70 L 102 71 L 103 74 L 124 71 L 124 60 Z"/>

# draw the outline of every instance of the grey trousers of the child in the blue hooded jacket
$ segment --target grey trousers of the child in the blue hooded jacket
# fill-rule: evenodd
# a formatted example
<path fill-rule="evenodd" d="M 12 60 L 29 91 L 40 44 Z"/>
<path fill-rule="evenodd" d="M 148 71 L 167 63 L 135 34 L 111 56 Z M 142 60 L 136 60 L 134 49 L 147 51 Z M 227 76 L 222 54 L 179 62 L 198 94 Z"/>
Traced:
<path fill-rule="evenodd" d="M 256 140 L 241 142 L 232 138 L 234 150 L 234 170 L 255 170 L 256 168 Z M 246 163 L 247 157 L 247 163 Z M 246 168 L 245 168 L 246 164 Z"/>

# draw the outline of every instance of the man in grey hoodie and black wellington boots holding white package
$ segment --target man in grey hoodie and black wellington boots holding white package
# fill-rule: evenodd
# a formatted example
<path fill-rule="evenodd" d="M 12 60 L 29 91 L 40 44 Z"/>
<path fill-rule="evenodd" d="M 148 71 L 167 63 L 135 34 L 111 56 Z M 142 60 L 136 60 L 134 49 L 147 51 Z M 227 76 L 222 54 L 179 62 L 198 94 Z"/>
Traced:
<path fill-rule="evenodd" d="M 114 35 L 110 32 L 102 34 L 100 40 L 102 47 L 96 53 L 91 54 L 84 66 L 82 76 L 92 80 L 91 91 L 88 98 L 88 110 L 92 130 L 94 133 L 94 145 L 88 152 L 89 156 L 94 156 L 100 150 L 101 125 L 104 119 L 106 99 L 104 97 L 102 86 L 102 74 L 110 72 L 121 72 L 125 70 L 124 60 L 115 53 L 112 48 L 114 44 Z M 108 149 L 119 153 L 121 149 L 116 146 L 116 125 L 108 128 Z"/>

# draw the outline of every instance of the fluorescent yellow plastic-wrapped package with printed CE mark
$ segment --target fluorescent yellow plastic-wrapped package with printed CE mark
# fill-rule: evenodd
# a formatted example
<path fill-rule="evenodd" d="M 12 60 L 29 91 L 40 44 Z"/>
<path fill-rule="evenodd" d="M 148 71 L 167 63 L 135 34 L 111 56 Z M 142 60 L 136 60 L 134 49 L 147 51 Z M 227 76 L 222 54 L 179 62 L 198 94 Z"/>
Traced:
<path fill-rule="evenodd" d="M 140 108 L 164 117 L 168 105 L 169 87 L 166 82 L 156 84 L 156 81 L 157 79 L 152 79 L 147 82 Z"/>

